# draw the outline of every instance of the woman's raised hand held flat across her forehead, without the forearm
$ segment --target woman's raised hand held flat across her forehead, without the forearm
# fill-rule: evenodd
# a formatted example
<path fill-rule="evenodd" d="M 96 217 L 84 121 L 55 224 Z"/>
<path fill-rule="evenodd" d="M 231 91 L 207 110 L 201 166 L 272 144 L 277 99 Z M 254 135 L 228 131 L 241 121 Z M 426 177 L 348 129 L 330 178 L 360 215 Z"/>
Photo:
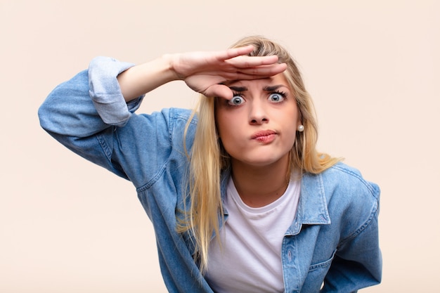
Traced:
<path fill-rule="evenodd" d="M 218 52 L 180 53 L 172 56 L 171 69 L 194 91 L 205 96 L 230 99 L 231 89 L 224 83 L 240 79 L 261 79 L 283 72 L 287 65 L 279 64 L 277 56 L 245 56 L 253 46 L 231 48 Z"/>

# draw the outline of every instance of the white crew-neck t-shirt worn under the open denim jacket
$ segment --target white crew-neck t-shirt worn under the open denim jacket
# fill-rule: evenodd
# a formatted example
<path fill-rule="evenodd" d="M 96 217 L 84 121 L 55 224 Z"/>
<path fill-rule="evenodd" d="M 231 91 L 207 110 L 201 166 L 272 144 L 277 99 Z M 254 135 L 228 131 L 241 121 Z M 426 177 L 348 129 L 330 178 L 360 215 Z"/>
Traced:
<path fill-rule="evenodd" d="M 206 279 L 214 292 L 284 292 L 281 245 L 295 219 L 300 186 L 291 179 L 278 200 L 253 208 L 242 202 L 230 178 L 222 246 L 214 238 L 209 248 Z"/>

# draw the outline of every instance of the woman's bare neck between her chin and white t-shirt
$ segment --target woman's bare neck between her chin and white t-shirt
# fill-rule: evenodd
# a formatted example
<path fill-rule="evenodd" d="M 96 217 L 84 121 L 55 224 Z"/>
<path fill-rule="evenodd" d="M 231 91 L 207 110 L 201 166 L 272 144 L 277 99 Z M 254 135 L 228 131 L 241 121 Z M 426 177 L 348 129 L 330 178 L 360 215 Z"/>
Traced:
<path fill-rule="evenodd" d="M 285 193 L 290 176 L 287 176 L 287 158 L 283 162 L 264 167 L 252 167 L 242 162 L 232 163 L 232 178 L 241 199 L 250 207 L 264 207 Z"/>

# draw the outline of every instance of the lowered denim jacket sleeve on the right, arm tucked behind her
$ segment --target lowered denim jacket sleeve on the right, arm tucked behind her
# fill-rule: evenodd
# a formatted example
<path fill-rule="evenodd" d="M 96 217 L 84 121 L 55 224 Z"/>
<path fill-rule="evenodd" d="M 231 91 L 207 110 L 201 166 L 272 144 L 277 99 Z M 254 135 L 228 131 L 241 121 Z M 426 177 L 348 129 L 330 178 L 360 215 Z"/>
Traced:
<path fill-rule="evenodd" d="M 322 293 L 357 292 L 377 285 L 382 278 L 382 254 L 379 247 L 378 222 L 379 189 L 375 188 L 375 202 L 370 217 L 337 247 L 337 253 L 325 276 Z"/>

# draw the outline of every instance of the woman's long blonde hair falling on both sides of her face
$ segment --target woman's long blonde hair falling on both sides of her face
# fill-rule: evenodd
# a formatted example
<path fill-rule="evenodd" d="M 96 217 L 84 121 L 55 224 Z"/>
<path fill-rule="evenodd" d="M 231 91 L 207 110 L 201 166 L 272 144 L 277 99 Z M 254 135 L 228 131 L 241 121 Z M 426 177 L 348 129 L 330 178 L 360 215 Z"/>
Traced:
<path fill-rule="evenodd" d="M 290 168 L 318 174 L 328 169 L 339 159 L 316 150 L 318 127 L 311 96 L 306 91 L 301 74 L 290 54 L 275 42 L 260 36 L 241 39 L 231 46 L 253 45 L 249 56 L 278 56 L 279 63 L 286 63 L 284 74 L 297 100 L 304 131 L 297 138 L 290 151 Z M 190 207 L 183 219 L 179 218 L 179 232 L 190 230 L 195 239 L 196 261 L 200 271 L 205 272 L 208 263 L 209 242 L 212 236 L 219 234 L 219 223 L 223 219 L 221 200 L 221 172 L 228 169 L 230 159 L 216 135 L 215 99 L 200 97 L 198 107 L 198 125 L 195 131 L 193 148 L 190 155 L 189 195 Z M 217 239 L 219 239 L 217 237 Z"/>

